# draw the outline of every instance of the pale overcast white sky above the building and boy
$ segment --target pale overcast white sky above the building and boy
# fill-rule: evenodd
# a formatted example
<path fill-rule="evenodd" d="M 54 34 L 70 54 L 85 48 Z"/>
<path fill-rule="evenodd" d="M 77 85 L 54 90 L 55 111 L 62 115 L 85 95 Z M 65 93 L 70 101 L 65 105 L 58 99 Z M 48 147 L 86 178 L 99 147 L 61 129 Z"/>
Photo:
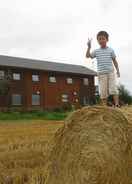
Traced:
<path fill-rule="evenodd" d="M 131 0 L 0 0 L 0 55 L 79 64 L 96 70 L 85 57 L 88 37 L 109 33 L 120 83 L 132 93 Z"/>

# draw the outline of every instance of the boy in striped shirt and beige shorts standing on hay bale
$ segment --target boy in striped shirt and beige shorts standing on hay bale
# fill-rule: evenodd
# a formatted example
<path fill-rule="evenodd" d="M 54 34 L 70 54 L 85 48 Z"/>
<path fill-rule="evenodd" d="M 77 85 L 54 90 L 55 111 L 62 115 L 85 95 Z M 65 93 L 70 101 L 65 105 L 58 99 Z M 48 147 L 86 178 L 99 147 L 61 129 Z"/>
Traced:
<path fill-rule="evenodd" d="M 107 46 L 108 40 L 108 33 L 106 31 L 100 31 L 97 34 L 97 41 L 100 45 L 100 48 L 91 53 L 91 40 L 88 40 L 86 57 L 97 59 L 98 79 L 102 104 L 106 105 L 107 97 L 109 95 L 113 95 L 114 105 L 115 107 L 119 107 L 118 89 L 116 85 L 116 76 L 114 73 L 113 64 L 116 68 L 118 77 L 120 77 L 120 72 L 115 52 L 112 48 Z"/>

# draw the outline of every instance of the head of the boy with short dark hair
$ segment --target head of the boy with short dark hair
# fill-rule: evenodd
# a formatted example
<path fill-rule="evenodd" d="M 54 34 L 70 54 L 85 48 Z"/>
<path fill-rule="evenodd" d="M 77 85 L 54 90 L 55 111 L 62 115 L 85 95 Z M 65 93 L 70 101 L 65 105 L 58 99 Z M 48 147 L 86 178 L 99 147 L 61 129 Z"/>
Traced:
<path fill-rule="evenodd" d="M 97 40 L 99 45 L 104 48 L 109 40 L 109 34 L 106 31 L 100 31 L 97 34 Z"/>

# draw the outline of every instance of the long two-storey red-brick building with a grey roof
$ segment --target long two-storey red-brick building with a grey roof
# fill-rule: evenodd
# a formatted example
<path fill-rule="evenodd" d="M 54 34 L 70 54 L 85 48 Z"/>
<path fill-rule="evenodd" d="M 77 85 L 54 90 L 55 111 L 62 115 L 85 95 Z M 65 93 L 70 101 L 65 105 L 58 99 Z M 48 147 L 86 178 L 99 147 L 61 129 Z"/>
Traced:
<path fill-rule="evenodd" d="M 0 80 L 7 74 L 8 95 L 0 109 L 54 109 L 66 104 L 87 105 L 95 98 L 96 72 L 81 65 L 0 56 Z"/>

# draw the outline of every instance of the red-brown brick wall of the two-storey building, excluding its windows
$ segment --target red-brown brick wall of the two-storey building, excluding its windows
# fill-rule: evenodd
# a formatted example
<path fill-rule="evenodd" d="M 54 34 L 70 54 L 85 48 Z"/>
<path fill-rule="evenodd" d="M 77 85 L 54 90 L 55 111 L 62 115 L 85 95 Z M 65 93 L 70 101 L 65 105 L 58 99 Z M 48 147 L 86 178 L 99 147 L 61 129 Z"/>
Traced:
<path fill-rule="evenodd" d="M 83 76 L 83 75 L 70 75 L 66 73 L 56 73 L 56 83 L 50 83 L 48 80 L 48 72 L 39 71 L 40 82 L 32 82 L 32 70 L 20 70 L 23 73 L 23 78 L 20 81 L 10 82 L 10 95 L 13 93 L 19 93 L 23 96 L 23 107 L 25 110 L 30 110 L 33 108 L 50 109 L 55 107 L 63 106 L 61 95 L 67 93 L 69 95 L 69 100 L 71 104 L 79 105 L 80 102 L 75 102 L 77 98 L 79 101 L 82 96 L 88 95 L 89 97 L 94 96 L 95 86 L 93 76 Z M 73 84 L 67 84 L 66 78 L 71 77 L 73 79 Z M 83 85 L 83 77 L 89 78 L 89 85 Z M 39 107 L 32 106 L 32 93 L 40 91 L 41 101 Z M 73 92 L 77 92 L 77 96 Z M 6 106 L 3 98 L 0 97 L 0 106 Z"/>

